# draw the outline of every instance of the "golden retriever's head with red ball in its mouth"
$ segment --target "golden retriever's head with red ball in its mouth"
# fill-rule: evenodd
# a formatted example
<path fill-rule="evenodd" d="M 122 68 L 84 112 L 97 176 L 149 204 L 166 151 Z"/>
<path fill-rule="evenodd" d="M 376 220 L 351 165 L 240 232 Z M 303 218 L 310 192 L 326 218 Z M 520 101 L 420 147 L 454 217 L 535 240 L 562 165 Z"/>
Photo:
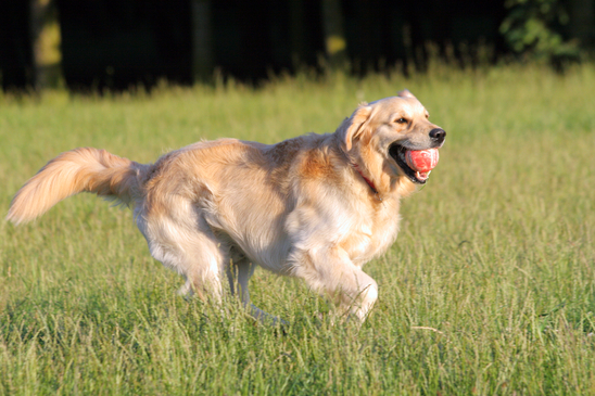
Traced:
<path fill-rule="evenodd" d="M 397 97 L 360 104 L 340 128 L 340 137 L 347 156 L 370 176 L 406 177 L 423 184 L 446 137 L 428 118 L 423 105 L 404 90 Z"/>

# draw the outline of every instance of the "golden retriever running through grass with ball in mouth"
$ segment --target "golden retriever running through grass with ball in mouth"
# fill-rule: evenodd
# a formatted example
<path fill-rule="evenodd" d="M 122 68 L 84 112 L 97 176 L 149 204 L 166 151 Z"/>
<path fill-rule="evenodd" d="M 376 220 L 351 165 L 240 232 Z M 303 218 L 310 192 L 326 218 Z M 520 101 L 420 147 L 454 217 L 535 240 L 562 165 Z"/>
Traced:
<path fill-rule="evenodd" d="M 151 255 L 186 279 L 185 294 L 220 302 L 227 278 L 250 314 L 277 322 L 250 304 L 258 265 L 364 321 L 378 285 L 362 266 L 395 241 L 400 201 L 428 180 L 444 143 L 428 116 L 405 90 L 360 104 L 334 133 L 273 145 L 202 141 L 148 165 L 76 149 L 27 181 L 7 218 L 29 221 L 93 192 L 134 208 Z"/>

